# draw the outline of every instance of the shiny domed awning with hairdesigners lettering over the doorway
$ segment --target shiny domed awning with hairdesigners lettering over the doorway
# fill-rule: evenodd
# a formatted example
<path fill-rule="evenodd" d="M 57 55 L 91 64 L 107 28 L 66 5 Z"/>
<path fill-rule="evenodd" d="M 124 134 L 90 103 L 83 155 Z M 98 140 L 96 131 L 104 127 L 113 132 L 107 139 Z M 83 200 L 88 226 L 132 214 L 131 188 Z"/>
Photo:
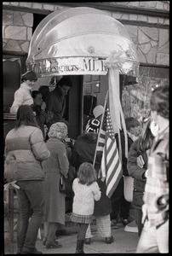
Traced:
<path fill-rule="evenodd" d="M 80 62 L 83 58 L 102 61 L 118 53 L 125 59 L 125 68 L 120 67 L 121 73 L 129 73 L 129 70 L 137 73 L 139 61 L 135 44 L 123 24 L 98 9 L 73 8 L 55 11 L 40 22 L 32 36 L 26 66 L 38 76 L 63 75 L 65 70 L 61 67 L 68 59 L 69 74 L 76 74 L 78 70 L 81 74 L 82 67 L 72 70 L 74 59 Z M 130 63 L 127 69 L 126 63 Z"/>

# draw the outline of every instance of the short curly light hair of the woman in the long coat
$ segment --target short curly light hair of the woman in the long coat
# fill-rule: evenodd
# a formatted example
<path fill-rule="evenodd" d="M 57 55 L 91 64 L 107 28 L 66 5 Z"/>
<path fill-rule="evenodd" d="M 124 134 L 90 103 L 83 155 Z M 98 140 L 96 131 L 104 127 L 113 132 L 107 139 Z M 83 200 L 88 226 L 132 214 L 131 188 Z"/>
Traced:
<path fill-rule="evenodd" d="M 67 136 L 67 126 L 65 123 L 57 122 L 50 126 L 49 137 L 57 137 L 60 140 L 64 140 Z"/>

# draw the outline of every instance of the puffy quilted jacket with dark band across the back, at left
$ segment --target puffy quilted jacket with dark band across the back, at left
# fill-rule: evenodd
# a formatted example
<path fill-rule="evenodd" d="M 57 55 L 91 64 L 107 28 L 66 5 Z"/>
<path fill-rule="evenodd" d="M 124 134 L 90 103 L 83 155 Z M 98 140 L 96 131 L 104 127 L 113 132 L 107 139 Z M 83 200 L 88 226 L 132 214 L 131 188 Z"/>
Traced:
<path fill-rule="evenodd" d="M 43 180 L 41 162 L 50 152 L 43 142 L 42 131 L 34 126 L 21 125 L 12 129 L 5 139 L 5 164 L 13 163 L 16 180 Z"/>

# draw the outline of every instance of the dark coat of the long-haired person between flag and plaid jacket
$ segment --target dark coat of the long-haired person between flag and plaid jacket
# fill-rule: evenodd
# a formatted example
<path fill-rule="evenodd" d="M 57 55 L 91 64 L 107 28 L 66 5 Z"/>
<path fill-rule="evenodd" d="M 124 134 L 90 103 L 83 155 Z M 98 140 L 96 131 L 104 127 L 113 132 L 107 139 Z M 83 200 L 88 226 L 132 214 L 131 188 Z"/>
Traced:
<path fill-rule="evenodd" d="M 140 139 L 137 139 L 132 143 L 129 149 L 127 168 L 129 176 L 134 178 L 134 191 L 133 191 L 133 203 L 136 208 L 141 208 L 143 205 L 143 195 L 145 193 L 146 177 L 144 173 L 147 169 L 147 154 L 141 152 L 139 148 Z M 137 165 L 137 157 L 142 155 L 145 165 L 143 168 Z"/>

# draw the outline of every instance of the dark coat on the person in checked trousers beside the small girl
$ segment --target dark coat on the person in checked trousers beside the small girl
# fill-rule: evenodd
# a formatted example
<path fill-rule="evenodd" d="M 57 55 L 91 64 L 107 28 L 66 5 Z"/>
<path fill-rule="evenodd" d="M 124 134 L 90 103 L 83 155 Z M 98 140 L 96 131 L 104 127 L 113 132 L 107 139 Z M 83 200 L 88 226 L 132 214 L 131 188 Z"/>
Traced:
<path fill-rule="evenodd" d="M 70 163 L 78 170 L 78 167 L 83 162 L 89 162 L 93 164 L 95 156 L 95 148 L 97 143 L 97 133 L 86 132 L 83 135 L 77 137 L 77 140 L 72 149 L 72 156 Z M 101 155 L 98 155 L 95 160 L 95 170 L 97 173 L 100 169 Z M 106 216 L 112 212 L 111 200 L 106 196 L 106 183 L 102 182 L 98 178 L 97 183 L 99 184 L 101 197 L 100 201 L 95 201 L 94 216 Z"/>

